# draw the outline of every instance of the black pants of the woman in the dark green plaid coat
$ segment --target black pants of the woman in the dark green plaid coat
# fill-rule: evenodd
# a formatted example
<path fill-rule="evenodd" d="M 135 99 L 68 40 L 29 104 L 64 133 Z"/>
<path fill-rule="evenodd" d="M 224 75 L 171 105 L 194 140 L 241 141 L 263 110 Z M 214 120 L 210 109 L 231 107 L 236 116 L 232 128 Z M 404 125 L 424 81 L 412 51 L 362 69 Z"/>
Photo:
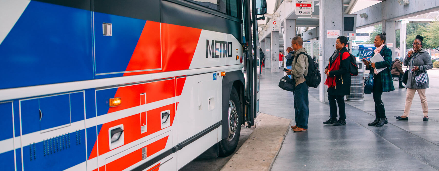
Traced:
<path fill-rule="evenodd" d="M 381 94 L 383 94 L 383 84 L 381 81 L 381 73 L 374 74 L 374 90 L 372 91 L 375 102 L 375 118 L 386 118 L 384 103 L 381 101 Z"/>

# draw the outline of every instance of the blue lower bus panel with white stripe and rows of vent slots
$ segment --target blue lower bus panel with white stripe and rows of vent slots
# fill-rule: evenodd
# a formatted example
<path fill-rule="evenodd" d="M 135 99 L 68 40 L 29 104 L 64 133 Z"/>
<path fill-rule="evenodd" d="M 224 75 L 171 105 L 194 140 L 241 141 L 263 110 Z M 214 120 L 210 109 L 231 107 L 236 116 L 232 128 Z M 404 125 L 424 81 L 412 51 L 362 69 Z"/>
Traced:
<path fill-rule="evenodd" d="M 85 170 L 84 99 L 79 91 L 19 100 L 23 170 Z"/>

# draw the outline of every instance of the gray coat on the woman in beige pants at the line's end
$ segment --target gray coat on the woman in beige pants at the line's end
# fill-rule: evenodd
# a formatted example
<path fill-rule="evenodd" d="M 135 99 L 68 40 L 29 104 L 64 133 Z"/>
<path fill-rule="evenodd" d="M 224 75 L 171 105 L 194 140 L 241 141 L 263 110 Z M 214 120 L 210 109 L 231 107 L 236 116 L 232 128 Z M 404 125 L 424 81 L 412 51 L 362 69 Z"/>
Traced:
<path fill-rule="evenodd" d="M 411 70 L 413 69 L 412 63 L 413 66 L 419 66 L 419 70 L 413 73 L 409 71 L 408 79 L 407 79 L 407 88 L 416 88 L 416 89 L 428 88 L 428 83 L 419 87 L 416 86 L 416 82 L 414 81 L 414 76 L 420 72 L 427 73 L 427 70 L 433 68 L 433 63 L 430 54 L 426 52 L 424 49 L 421 49 L 421 51 L 419 51 L 417 54 L 412 54 L 411 57 L 406 55 L 406 58 L 404 59 L 404 66 L 410 66 L 409 70 Z M 430 82 L 430 80 L 428 80 L 428 82 Z"/>

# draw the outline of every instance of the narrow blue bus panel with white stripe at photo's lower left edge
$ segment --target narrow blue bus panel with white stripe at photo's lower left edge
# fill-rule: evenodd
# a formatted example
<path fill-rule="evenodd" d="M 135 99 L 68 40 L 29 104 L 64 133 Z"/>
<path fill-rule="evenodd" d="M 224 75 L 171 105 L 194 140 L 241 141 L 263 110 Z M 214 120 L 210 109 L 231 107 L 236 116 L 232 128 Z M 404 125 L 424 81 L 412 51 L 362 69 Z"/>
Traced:
<path fill-rule="evenodd" d="M 0 134 L 0 143 L 2 144 L 0 150 L 0 163 L 2 164 L 3 171 L 14 171 L 12 102 L 0 103 L 0 112 L 2 113 L 0 125 L 3 128 L 3 132 Z"/>

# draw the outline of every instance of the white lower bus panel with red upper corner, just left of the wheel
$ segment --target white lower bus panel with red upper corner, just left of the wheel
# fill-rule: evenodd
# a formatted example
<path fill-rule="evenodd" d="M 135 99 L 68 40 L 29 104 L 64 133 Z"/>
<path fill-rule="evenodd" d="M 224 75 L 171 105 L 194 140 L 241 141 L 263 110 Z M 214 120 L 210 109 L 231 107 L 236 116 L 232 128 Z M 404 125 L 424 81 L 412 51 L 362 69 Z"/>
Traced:
<path fill-rule="evenodd" d="M 215 76 L 213 76 L 215 74 Z M 177 87 L 184 84 L 178 97 L 177 142 L 183 142 L 221 120 L 221 78 L 217 73 L 205 73 L 177 79 Z M 177 90 L 177 92 L 180 92 Z M 192 161 L 206 149 L 217 143 L 218 130 L 200 137 L 187 147 L 177 151 L 178 168 Z"/>

